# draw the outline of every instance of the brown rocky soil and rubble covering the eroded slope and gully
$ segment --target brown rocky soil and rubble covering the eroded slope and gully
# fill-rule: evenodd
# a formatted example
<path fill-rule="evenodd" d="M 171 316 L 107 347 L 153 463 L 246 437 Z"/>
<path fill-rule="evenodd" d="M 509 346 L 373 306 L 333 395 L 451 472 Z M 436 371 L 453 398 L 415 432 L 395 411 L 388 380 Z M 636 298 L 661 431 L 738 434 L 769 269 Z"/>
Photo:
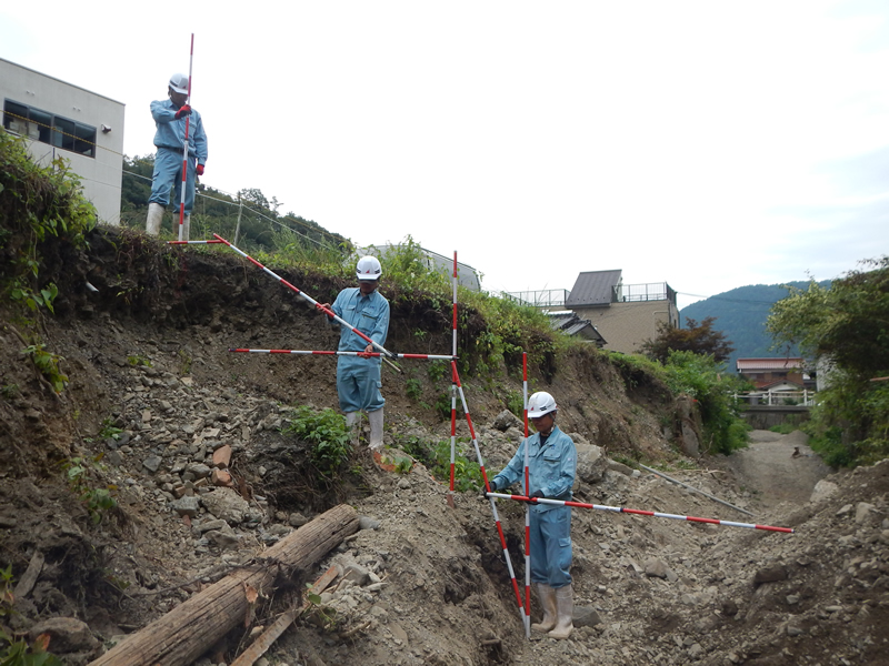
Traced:
<path fill-rule="evenodd" d="M 290 307 L 279 286 L 248 278 L 250 266 L 220 260 L 219 275 L 199 255 L 188 260 L 190 274 L 210 275 L 239 307 L 184 283 L 188 299 L 214 297 L 216 309 L 196 305 L 191 317 L 176 306 L 161 315 L 162 304 L 146 305 L 151 316 L 128 311 L 120 292 L 140 283 L 127 282 L 120 252 L 101 248 L 93 243 L 84 269 L 100 300 L 72 290 L 67 311 L 42 324 L 48 347 L 66 359 L 61 397 L 22 362 L 13 317 L 0 332 L 0 564 L 16 587 L 16 613 L 0 620 L 20 634 L 50 630 L 66 663 L 89 663 L 343 502 L 363 528 L 304 576 L 331 565 L 348 576 L 266 664 L 889 663 L 889 461 L 831 473 L 800 433 L 760 432 L 731 457 L 686 457 L 665 438 L 657 387 L 589 361 L 551 383 L 536 376 L 532 390 L 557 396 L 559 421 L 579 444 L 580 502 L 796 532 L 576 509 L 577 629 L 569 640 L 528 640 L 490 503 L 468 491 L 449 506 L 441 480 L 399 452 L 449 440 L 450 423 L 430 406 L 447 379 L 437 383 L 426 367 L 387 373 L 386 440 L 398 468 L 377 467 L 361 442 L 339 481 L 324 483 L 287 425 L 297 405 L 336 405 L 332 362 L 227 350 L 331 349 L 333 334 Z M 391 349 L 434 352 L 409 349 L 420 336 L 402 325 Z M 407 379 L 421 395 L 406 391 Z M 485 463 L 497 472 L 521 437 L 502 415 L 520 384 L 515 375 L 465 383 Z M 458 434 L 475 457 L 465 421 Z M 631 454 L 737 509 L 615 460 Z M 118 508 L 78 501 L 109 484 Z M 523 587 L 523 507 L 499 501 L 498 513 Z M 250 626 L 198 664 L 230 663 L 273 619 L 283 595 L 264 593 Z"/>

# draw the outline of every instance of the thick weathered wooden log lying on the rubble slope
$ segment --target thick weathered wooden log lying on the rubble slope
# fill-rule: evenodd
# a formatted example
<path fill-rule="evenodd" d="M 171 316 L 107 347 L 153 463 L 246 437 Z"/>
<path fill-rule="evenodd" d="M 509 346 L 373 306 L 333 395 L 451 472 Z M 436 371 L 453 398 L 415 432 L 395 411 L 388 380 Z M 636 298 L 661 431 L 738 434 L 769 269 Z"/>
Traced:
<path fill-rule="evenodd" d="M 341 504 L 307 523 L 263 553 L 262 561 L 308 568 L 358 532 L 358 514 Z M 90 666 L 188 666 L 229 630 L 242 625 L 250 591 L 268 589 L 277 567 L 237 569 L 129 636 Z"/>

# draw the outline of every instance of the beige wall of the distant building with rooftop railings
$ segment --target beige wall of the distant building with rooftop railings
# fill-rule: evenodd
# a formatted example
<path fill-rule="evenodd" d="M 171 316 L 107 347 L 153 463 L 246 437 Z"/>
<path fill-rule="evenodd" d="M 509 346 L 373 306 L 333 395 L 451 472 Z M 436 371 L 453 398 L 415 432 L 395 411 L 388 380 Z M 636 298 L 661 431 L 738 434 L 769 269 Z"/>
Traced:
<path fill-rule="evenodd" d="M 679 311 L 670 301 L 632 301 L 605 307 L 573 307 L 580 319 L 590 320 L 605 337 L 606 350 L 635 354 L 646 340 L 658 334 L 658 323 L 679 324 Z"/>

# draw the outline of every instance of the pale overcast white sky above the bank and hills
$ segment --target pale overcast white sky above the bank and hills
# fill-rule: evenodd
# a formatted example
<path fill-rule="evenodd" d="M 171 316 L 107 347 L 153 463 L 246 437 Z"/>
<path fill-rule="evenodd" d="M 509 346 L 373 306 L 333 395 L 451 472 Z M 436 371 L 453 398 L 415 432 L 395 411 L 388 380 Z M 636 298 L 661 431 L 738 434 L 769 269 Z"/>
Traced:
<path fill-rule="evenodd" d="M 0 57 L 124 102 L 129 155 L 193 32 L 206 184 L 490 291 L 682 307 L 889 253 L 885 0 L 3 4 Z"/>

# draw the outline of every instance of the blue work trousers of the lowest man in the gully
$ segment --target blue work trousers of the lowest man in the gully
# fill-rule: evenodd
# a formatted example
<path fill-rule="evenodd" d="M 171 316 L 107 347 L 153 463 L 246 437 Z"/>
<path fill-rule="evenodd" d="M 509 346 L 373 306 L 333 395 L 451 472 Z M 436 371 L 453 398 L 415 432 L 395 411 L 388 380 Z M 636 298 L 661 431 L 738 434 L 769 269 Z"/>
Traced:
<path fill-rule="evenodd" d="M 571 584 L 571 508 L 531 506 L 531 581 L 553 589 Z"/>

